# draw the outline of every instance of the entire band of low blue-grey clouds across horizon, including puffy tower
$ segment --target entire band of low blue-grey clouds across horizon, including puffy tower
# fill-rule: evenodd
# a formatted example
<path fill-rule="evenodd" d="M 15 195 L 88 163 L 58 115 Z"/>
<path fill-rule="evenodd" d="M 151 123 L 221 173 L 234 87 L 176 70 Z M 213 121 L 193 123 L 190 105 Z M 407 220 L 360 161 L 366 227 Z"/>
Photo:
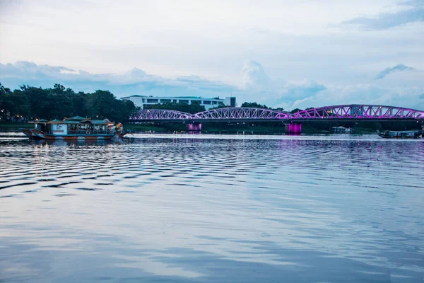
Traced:
<path fill-rule="evenodd" d="M 409 70 L 398 65 L 382 71 L 387 76 L 394 71 Z M 418 71 L 414 72 L 418 73 Z M 61 83 L 74 91 L 92 92 L 109 90 L 117 97 L 134 94 L 146 96 L 236 96 L 238 105 L 256 101 L 270 107 L 319 107 L 338 104 L 380 104 L 424 109 L 424 85 L 407 80 L 375 80 L 373 83 L 328 84 L 311 79 L 284 81 L 270 78 L 258 62 L 246 62 L 242 68 L 246 84 L 233 86 L 212 81 L 201 76 L 153 76 L 141 69 L 131 69 L 124 74 L 90 74 L 66 67 L 37 65 L 33 62 L 0 64 L 0 82 L 8 88 L 23 84 L 49 88 Z M 397 82 L 397 84 L 396 84 Z"/>

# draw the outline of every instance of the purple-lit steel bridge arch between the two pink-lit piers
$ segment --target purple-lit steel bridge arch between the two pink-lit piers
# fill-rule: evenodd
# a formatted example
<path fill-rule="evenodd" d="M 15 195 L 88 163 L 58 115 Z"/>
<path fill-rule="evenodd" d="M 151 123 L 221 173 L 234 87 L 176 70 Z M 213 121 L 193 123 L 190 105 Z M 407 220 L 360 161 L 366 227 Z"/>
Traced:
<path fill-rule="evenodd" d="M 196 120 L 284 120 L 288 113 L 264 108 L 213 108 L 204 112 L 193 114 Z"/>

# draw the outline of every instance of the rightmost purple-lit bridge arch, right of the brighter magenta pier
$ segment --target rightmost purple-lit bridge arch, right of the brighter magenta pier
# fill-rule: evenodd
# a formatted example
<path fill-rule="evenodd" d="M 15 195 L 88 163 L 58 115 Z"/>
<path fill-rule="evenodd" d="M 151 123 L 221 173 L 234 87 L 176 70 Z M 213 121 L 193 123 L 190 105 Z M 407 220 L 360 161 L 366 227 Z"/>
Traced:
<path fill-rule="evenodd" d="M 290 115 L 292 120 L 310 119 L 424 119 L 424 111 L 387 105 L 332 105 L 302 110 Z"/>

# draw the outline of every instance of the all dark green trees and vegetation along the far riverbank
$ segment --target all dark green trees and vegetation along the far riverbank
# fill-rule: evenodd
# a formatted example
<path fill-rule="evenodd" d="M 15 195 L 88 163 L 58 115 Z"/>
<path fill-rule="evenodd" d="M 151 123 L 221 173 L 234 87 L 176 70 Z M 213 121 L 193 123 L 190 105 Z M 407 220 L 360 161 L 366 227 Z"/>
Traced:
<path fill-rule="evenodd" d="M 245 102 L 242 107 L 267 108 L 281 110 L 283 108 L 269 108 L 259 103 Z M 218 105 L 217 108 L 228 106 Z M 194 114 L 205 111 L 199 103 L 190 105 L 184 103 L 163 103 L 148 105 L 150 109 L 177 110 Z M 310 108 L 306 108 L 310 109 Z M 124 128 L 134 133 L 176 133 L 188 132 L 184 122 L 146 122 L 131 123 L 129 117 L 139 110 L 131 100 L 116 98 L 110 91 L 98 90 L 93 93 L 78 93 L 71 88 L 65 88 L 59 83 L 53 88 L 35 88 L 33 86 L 20 86 L 11 91 L 0 83 L 0 131 L 12 132 L 20 128 L 31 128 L 33 124 L 28 121 L 35 119 L 62 120 L 64 117 L 83 116 L 92 119 L 107 118 L 112 122 L 123 122 Z M 298 112 L 294 109 L 290 112 Z M 204 134 L 283 134 L 285 125 L 281 122 L 201 122 L 201 132 Z M 332 127 L 348 127 L 353 129 L 353 134 L 370 134 L 377 130 L 410 130 L 420 129 L 420 124 L 415 121 L 320 121 L 302 122 L 304 134 L 331 134 Z"/>

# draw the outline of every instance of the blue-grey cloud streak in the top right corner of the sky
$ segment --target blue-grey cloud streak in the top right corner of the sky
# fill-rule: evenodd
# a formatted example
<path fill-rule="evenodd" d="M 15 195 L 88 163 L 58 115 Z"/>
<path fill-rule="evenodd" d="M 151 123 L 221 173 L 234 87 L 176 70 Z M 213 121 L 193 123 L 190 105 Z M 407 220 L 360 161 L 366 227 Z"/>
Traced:
<path fill-rule="evenodd" d="M 400 6 L 408 6 L 406 10 L 396 13 L 380 13 L 375 18 L 358 17 L 350 21 L 344 21 L 345 25 L 359 25 L 366 30 L 385 30 L 408 23 L 420 23 L 424 21 L 424 1 L 406 1 Z"/>

